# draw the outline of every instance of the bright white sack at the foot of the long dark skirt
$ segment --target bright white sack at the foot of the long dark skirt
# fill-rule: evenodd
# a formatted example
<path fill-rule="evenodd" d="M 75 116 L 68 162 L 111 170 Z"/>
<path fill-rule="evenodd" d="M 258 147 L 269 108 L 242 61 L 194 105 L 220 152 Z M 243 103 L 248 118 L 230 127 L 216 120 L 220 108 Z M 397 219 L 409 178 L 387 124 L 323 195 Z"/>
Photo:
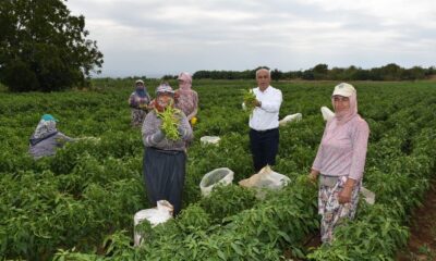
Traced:
<path fill-rule="evenodd" d="M 133 217 L 133 224 L 134 224 L 134 246 L 137 247 L 141 245 L 141 239 L 144 237 L 144 235 L 141 235 L 141 233 L 136 232 L 136 225 L 141 224 L 144 220 L 147 220 L 150 224 L 152 227 L 155 227 L 156 225 L 160 223 L 167 222 L 169 219 L 172 219 L 172 211 L 174 208 L 170 202 L 167 200 L 159 200 L 157 201 L 157 207 L 153 209 L 145 209 L 145 210 L 140 210 L 135 213 Z"/>

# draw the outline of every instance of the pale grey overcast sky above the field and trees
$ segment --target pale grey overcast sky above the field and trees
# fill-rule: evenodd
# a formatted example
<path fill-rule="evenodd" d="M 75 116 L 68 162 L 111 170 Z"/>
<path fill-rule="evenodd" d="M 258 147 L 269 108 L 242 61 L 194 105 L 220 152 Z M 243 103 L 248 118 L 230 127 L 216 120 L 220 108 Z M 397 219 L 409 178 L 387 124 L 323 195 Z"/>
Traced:
<path fill-rule="evenodd" d="M 436 0 L 69 0 L 101 76 L 436 65 Z"/>

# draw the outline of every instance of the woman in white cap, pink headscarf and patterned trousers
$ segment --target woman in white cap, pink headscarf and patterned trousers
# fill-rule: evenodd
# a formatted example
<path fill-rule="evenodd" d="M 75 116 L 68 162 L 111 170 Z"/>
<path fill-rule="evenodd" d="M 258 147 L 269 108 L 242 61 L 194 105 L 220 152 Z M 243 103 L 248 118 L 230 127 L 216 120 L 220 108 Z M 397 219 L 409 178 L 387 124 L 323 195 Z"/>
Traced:
<path fill-rule="evenodd" d="M 354 217 L 370 128 L 358 114 L 356 90 L 350 84 L 339 84 L 331 96 L 335 116 L 327 121 L 308 177 L 319 175 L 318 212 L 322 215 L 323 243 L 331 243 L 335 227 Z"/>

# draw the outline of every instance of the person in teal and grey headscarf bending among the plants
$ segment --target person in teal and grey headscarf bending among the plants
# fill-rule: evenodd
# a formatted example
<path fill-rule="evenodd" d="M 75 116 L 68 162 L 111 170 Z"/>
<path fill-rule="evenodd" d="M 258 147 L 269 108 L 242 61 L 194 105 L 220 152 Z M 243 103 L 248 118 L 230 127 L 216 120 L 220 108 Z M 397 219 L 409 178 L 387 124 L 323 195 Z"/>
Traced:
<path fill-rule="evenodd" d="M 34 159 L 39 159 L 44 156 L 53 156 L 57 148 L 62 147 L 68 141 L 75 139 L 68 137 L 59 132 L 56 127 L 56 120 L 50 114 L 44 114 L 38 126 L 29 139 L 28 152 Z"/>

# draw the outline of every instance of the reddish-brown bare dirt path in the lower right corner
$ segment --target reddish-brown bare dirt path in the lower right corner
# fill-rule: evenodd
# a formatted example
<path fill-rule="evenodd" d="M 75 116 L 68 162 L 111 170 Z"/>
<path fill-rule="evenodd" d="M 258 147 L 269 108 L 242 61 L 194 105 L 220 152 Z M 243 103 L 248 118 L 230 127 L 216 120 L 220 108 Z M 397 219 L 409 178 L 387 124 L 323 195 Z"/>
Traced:
<path fill-rule="evenodd" d="M 436 260 L 436 181 L 426 194 L 424 204 L 413 211 L 407 249 L 398 252 L 397 261 Z"/>

